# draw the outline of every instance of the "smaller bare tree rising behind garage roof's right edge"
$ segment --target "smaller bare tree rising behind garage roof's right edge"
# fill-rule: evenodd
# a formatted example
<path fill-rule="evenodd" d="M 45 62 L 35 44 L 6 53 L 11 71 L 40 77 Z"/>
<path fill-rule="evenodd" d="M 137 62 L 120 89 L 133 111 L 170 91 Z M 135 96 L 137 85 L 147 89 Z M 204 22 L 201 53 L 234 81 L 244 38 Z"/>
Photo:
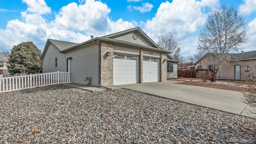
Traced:
<path fill-rule="evenodd" d="M 172 32 L 167 32 L 166 35 L 159 36 L 157 44 L 164 50 L 172 52 L 170 56 L 172 56 L 174 60 L 179 60 L 180 47 Z"/>

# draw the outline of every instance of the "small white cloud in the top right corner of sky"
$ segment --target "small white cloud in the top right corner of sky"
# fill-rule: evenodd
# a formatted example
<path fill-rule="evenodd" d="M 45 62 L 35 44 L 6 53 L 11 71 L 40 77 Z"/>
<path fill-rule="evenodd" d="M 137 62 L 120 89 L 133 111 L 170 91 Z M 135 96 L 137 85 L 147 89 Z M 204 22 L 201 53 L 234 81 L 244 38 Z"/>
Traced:
<path fill-rule="evenodd" d="M 256 10 L 256 0 L 243 0 L 245 4 L 239 6 L 239 14 L 250 15 Z"/>

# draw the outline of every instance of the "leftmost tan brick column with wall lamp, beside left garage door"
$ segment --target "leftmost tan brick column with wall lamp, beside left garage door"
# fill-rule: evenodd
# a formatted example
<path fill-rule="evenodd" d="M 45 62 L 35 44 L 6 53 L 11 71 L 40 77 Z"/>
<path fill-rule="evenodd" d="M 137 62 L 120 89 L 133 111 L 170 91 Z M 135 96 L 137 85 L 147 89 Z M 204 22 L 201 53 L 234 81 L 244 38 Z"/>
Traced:
<path fill-rule="evenodd" d="M 101 42 L 100 48 L 100 84 L 103 86 L 113 86 L 113 44 Z M 107 52 L 110 52 L 110 56 L 107 56 Z"/>

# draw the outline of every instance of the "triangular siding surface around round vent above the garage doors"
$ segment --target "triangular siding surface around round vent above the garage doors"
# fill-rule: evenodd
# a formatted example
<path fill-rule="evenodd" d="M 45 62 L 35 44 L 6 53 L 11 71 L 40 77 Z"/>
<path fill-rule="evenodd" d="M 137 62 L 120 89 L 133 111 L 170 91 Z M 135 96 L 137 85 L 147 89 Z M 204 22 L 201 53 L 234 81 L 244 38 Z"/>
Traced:
<path fill-rule="evenodd" d="M 151 44 L 148 39 L 144 38 L 144 36 L 142 36 L 140 33 L 137 32 L 138 34 L 138 38 L 137 40 L 134 40 L 132 38 L 132 33 L 133 32 L 128 32 L 128 33 L 125 33 L 125 34 L 120 34 L 118 36 L 114 36 L 112 37 L 113 39 L 116 39 L 116 40 L 122 40 L 122 41 L 125 41 L 125 42 L 132 42 L 132 43 L 135 43 L 135 44 L 140 44 L 140 45 L 144 45 L 144 46 L 151 46 L 151 47 L 155 47 L 153 44 Z"/>

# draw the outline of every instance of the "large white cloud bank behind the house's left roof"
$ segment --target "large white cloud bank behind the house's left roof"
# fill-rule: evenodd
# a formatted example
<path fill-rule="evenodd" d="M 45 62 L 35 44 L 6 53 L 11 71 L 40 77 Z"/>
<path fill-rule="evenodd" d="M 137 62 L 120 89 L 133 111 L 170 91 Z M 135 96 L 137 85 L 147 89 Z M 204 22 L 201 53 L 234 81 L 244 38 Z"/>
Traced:
<path fill-rule="evenodd" d="M 69 42 L 85 42 L 90 40 L 90 35 L 104 36 L 114 32 L 134 28 L 135 22 L 128 22 L 120 18 L 110 20 L 110 8 L 106 4 L 95 0 L 86 0 L 84 4 L 71 3 L 63 6 L 56 13 L 55 19 L 48 22 L 41 16 L 45 10 L 30 9 L 33 5 L 44 9 L 42 0 L 24 0 L 28 9 L 21 12 L 22 20 L 10 20 L 6 29 L 0 29 L 0 49 L 8 50 L 21 42 L 32 41 L 41 50 L 47 38 Z M 35 3 L 36 2 L 36 3 Z M 36 6 L 36 4 L 38 4 Z M 48 9 L 50 10 L 50 8 Z"/>

